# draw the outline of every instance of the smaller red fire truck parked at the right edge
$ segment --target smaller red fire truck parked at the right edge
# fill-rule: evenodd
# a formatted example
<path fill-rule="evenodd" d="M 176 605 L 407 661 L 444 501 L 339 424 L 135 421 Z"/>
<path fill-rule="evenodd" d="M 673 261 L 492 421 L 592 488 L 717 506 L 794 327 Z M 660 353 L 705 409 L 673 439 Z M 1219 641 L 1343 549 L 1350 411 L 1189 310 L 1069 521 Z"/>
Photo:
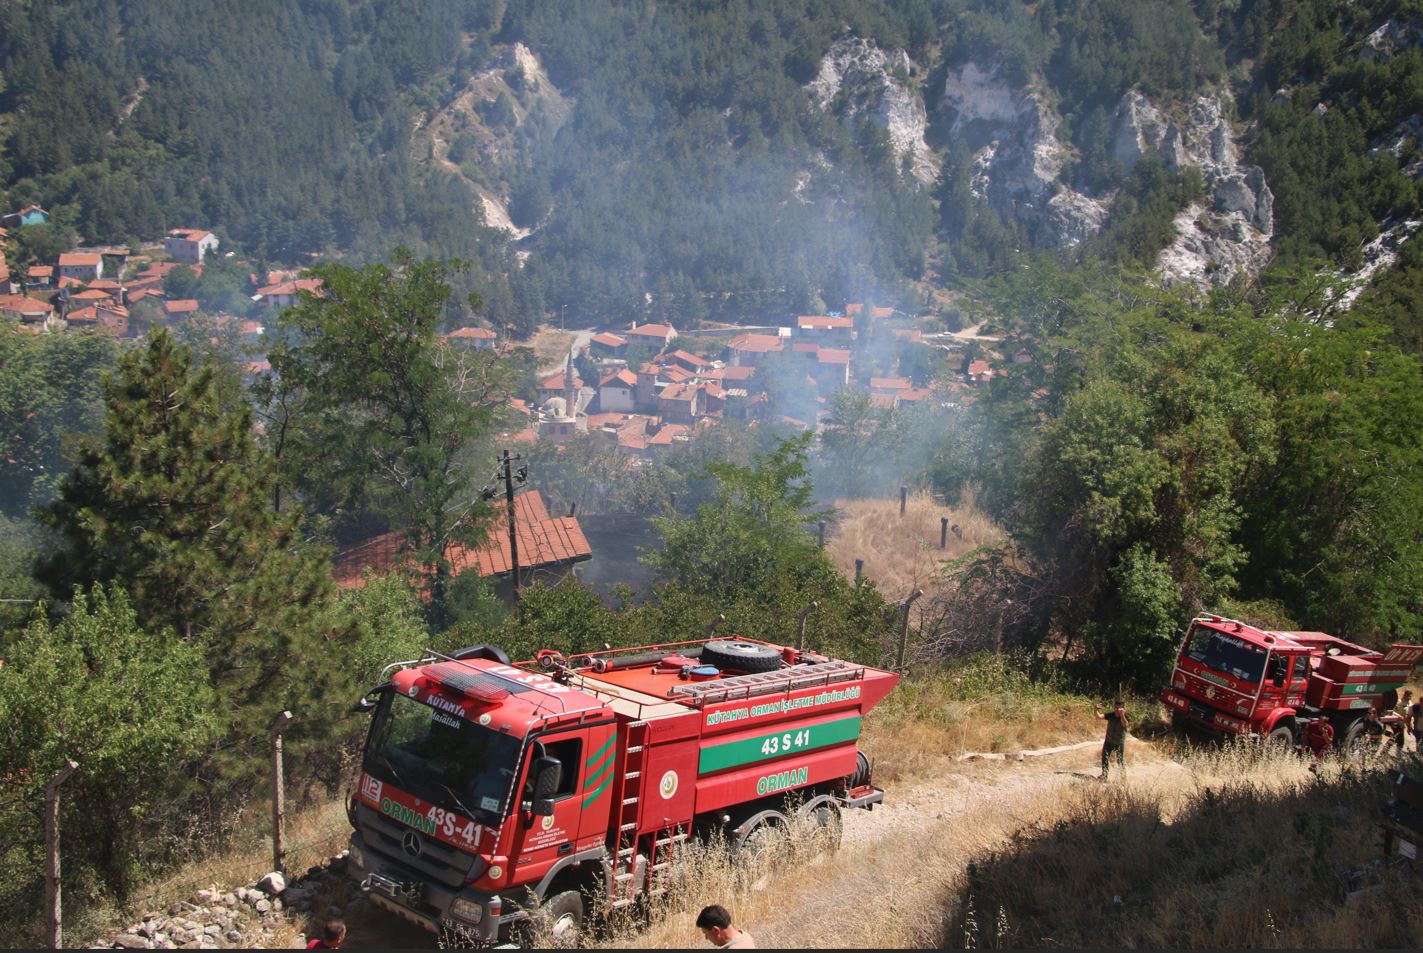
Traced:
<path fill-rule="evenodd" d="M 1423 646 L 1375 651 L 1322 632 L 1266 632 L 1234 619 L 1191 622 L 1161 701 L 1184 727 L 1295 745 L 1312 721 L 1353 745 L 1363 714 L 1397 717 L 1397 690 L 1423 659 Z"/>

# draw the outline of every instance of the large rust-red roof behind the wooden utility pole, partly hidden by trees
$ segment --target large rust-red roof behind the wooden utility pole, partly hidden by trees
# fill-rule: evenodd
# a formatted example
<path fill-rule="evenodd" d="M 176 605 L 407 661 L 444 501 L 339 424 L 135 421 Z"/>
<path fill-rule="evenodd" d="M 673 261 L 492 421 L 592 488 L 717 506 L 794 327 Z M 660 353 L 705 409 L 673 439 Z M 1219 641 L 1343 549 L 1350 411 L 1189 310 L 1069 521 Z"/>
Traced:
<path fill-rule="evenodd" d="M 501 576 L 512 569 L 508 523 L 502 515 L 505 506 L 502 499 L 495 501 L 497 518 L 482 545 L 450 543 L 445 548 L 445 558 L 450 559 L 451 572 L 455 576 L 471 569 L 481 576 Z M 536 489 L 514 498 L 514 525 L 522 570 L 581 562 L 593 555 L 578 519 L 575 516 L 549 516 L 544 498 Z M 388 532 L 369 539 L 336 556 L 336 585 L 343 589 L 360 589 L 366 585 L 361 577 L 363 570 L 369 568 L 377 573 L 387 573 L 400 568 L 406 560 L 406 553 L 404 533 Z"/>

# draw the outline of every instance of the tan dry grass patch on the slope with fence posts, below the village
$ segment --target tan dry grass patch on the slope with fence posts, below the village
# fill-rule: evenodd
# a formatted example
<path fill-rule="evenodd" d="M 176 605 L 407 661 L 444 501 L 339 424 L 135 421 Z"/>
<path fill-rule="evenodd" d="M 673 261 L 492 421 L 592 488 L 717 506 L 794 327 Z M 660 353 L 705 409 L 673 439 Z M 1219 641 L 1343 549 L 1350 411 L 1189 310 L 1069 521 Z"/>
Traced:
<path fill-rule="evenodd" d="M 864 559 L 865 577 L 889 599 L 924 589 L 922 602 L 932 602 L 945 560 L 1003 538 L 1003 531 L 975 506 L 972 492 L 965 492 L 958 508 L 941 506 L 928 494 L 914 494 L 904 516 L 898 498 L 841 499 L 835 508 L 842 518 L 835 535 L 825 541 L 831 560 L 854 579 L 855 560 Z M 959 533 L 951 529 L 948 546 L 939 549 L 939 521 L 945 516 Z"/>

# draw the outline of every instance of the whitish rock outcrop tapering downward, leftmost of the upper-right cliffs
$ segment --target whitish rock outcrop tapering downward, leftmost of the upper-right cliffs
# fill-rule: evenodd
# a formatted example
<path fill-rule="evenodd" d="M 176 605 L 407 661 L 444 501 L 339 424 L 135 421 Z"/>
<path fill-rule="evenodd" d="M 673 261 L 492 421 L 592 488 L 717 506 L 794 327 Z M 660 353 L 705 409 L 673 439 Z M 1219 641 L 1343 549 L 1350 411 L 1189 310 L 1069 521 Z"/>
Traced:
<path fill-rule="evenodd" d="M 881 50 L 869 40 L 837 41 L 807 90 L 820 108 L 847 124 L 868 121 L 885 131 L 895 154 L 919 182 L 932 182 L 939 164 L 924 139 L 928 114 L 912 77 L 919 73 L 904 50 Z"/>

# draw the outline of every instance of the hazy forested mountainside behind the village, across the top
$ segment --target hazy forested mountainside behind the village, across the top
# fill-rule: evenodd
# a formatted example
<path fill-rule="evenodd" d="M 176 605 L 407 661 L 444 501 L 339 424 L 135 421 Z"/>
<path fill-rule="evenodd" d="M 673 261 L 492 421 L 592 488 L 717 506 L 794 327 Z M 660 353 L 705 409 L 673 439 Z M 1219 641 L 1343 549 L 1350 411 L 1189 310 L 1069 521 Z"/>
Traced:
<path fill-rule="evenodd" d="M 494 323 L 524 330 L 549 313 L 696 326 L 865 294 L 914 310 L 924 279 L 1035 249 L 1151 267 L 1211 195 L 1190 168 L 1123 156 L 1123 97 L 1173 119 L 1208 95 L 1274 193 L 1275 260 L 1353 269 L 1419 206 L 1416 6 L 6 0 L 0 199 L 58 211 L 88 242 L 198 225 L 273 263 L 457 255 L 478 263 Z M 905 60 L 817 102 L 808 87 L 848 38 Z M 539 108 L 514 44 L 566 115 Z M 965 67 L 1039 104 L 1035 145 L 1062 168 L 1037 192 L 985 193 L 983 149 L 1009 145 L 951 102 Z M 505 85 L 447 115 L 481 75 Z M 924 104 L 928 181 L 884 119 L 898 92 Z M 438 148 L 423 132 L 437 114 L 454 119 Z M 1042 220 L 1064 189 L 1080 235 Z M 522 267 L 478 191 L 531 230 Z M 1416 279 L 1386 283 L 1395 300 Z"/>

